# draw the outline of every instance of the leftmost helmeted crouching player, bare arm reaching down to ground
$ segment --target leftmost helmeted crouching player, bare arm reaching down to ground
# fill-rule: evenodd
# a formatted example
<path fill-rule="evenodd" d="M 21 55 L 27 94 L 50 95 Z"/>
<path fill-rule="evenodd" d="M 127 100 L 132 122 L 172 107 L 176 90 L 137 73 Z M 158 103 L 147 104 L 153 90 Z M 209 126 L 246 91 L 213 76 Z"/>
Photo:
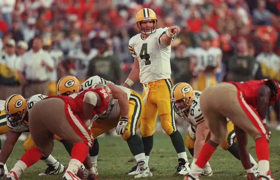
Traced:
<path fill-rule="evenodd" d="M 46 96 L 38 94 L 25 99 L 21 95 L 15 94 L 9 96 L 5 101 L 4 109 L 7 115 L 7 126 L 10 130 L 7 132 L 7 140 L 3 144 L 2 153 L 0 153 L 0 177 L 4 176 L 4 172 L 2 172 L 2 169 L 4 169 L 3 165 L 7 162 L 19 136 L 24 132 L 29 132 L 28 113 L 34 104 L 41 101 L 44 97 Z M 32 145 L 34 146 L 32 138 L 28 139 L 24 144 L 30 148 Z M 46 170 L 48 171 L 47 174 L 60 174 L 65 171 L 65 167 L 59 161 L 55 160 L 52 155 L 41 160 L 48 165 Z"/>

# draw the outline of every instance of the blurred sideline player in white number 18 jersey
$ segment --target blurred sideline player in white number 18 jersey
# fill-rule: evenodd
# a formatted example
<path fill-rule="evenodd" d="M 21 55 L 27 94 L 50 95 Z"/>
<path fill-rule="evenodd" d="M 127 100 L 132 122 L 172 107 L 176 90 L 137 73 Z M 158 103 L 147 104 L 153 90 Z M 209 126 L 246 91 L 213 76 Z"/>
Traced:
<path fill-rule="evenodd" d="M 191 63 L 196 64 L 197 90 L 203 91 L 210 85 L 217 84 L 216 74 L 221 72 L 222 50 L 211 47 L 211 38 L 203 37 L 201 47 L 190 52 Z"/>

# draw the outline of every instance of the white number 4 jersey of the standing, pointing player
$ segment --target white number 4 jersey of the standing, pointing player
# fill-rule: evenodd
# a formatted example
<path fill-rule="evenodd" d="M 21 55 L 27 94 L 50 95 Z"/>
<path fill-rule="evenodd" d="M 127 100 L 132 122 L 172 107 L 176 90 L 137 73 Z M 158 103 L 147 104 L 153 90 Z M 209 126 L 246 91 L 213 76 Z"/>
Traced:
<path fill-rule="evenodd" d="M 145 40 L 142 39 L 141 34 L 129 40 L 129 51 L 139 61 L 141 83 L 171 78 L 171 45 L 165 46 L 160 40 L 167 29 L 167 27 L 159 28 Z"/>

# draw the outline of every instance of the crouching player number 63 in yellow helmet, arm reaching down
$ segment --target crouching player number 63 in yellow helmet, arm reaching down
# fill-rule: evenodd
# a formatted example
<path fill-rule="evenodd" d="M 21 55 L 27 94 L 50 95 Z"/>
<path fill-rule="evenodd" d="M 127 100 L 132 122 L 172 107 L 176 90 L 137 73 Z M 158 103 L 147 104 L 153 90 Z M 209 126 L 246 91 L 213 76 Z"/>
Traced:
<path fill-rule="evenodd" d="M 175 113 L 183 117 L 190 124 L 188 133 L 185 137 L 185 147 L 193 156 L 192 165 L 196 162 L 196 158 L 202 146 L 210 137 L 210 131 L 200 110 L 199 98 L 201 93 L 201 91 L 194 91 L 193 88 L 185 82 L 177 83 L 171 91 L 171 101 Z M 220 144 L 220 146 L 240 160 L 234 125 L 229 119 L 227 119 L 227 133 L 228 135 L 225 142 Z M 258 164 L 250 154 L 249 156 L 254 174 L 255 176 L 259 176 Z M 201 175 L 212 176 L 212 174 L 210 164 L 207 162 Z"/>

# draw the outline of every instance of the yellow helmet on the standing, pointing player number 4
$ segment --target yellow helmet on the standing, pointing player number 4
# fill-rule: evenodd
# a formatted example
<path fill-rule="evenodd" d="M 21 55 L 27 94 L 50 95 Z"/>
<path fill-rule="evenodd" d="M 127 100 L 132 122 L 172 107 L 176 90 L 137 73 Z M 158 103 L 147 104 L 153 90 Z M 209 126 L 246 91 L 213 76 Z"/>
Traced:
<path fill-rule="evenodd" d="M 152 27 L 147 27 L 147 28 L 142 28 L 141 27 L 141 22 L 144 21 L 154 21 L 154 26 Z M 149 8 L 144 8 L 141 9 L 136 16 L 136 24 L 137 28 L 140 30 L 142 34 L 149 35 L 154 33 L 157 30 L 158 27 L 158 20 L 157 20 L 157 15 L 155 12 Z"/>

